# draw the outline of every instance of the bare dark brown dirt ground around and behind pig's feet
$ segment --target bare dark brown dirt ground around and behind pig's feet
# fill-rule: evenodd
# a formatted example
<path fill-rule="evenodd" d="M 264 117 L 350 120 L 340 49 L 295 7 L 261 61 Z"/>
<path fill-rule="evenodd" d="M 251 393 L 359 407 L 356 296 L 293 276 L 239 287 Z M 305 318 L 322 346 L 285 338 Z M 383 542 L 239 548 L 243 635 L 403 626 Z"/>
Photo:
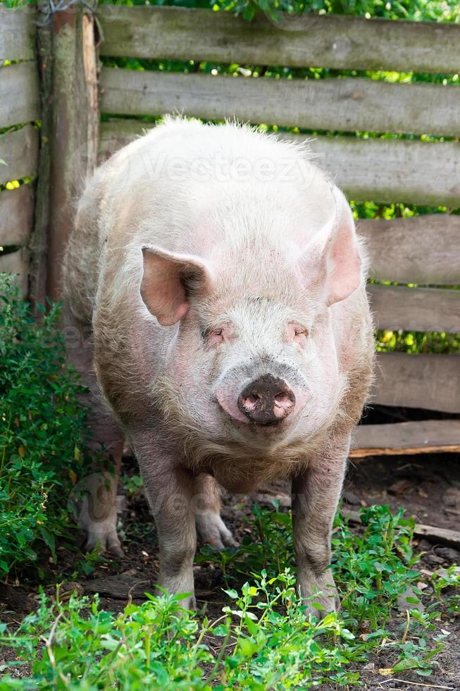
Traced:
<path fill-rule="evenodd" d="M 135 472 L 135 462 L 128 460 L 128 472 Z M 247 525 L 242 521 L 249 515 L 254 501 L 271 503 L 272 496 L 278 496 L 281 505 L 289 501 L 288 488 L 263 487 L 258 494 L 248 496 L 238 503 L 231 498 L 224 499 L 223 517 L 235 536 L 241 539 Z M 344 484 L 344 508 L 359 510 L 361 506 L 388 503 L 393 510 L 404 507 L 419 523 L 459 528 L 460 517 L 460 463 L 459 456 L 420 455 L 411 457 L 367 458 L 351 462 Z M 123 512 L 125 559 L 119 563 L 99 563 L 91 575 L 81 575 L 64 587 L 92 594 L 99 592 L 101 606 L 112 611 L 123 609 L 129 596 L 134 601 L 144 600 L 144 592 L 152 591 L 158 570 L 156 534 L 151 522 L 147 503 L 140 491 L 128 502 Z M 426 539 L 417 539 L 416 549 L 423 551 L 419 568 L 433 571 L 440 566 L 460 563 L 460 551 L 454 546 Z M 458 547 L 460 550 L 460 546 Z M 66 554 L 60 564 L 70 569 L 72 557 Z M 70 571 L 68 571 L 70 573 Z M 56 578 L 58 573 L 56 573 Z M 224 586 L 218 568 L 206 565 L 195 566 L 195 582 L 198 606 L 206 605 L 208 616 L 219 616 L 225 604 L 221 588 Z M 49 587 L 52 593 L 54 587 Z M 38 586 L 34 582 L 19 585 L 0 585 L 0 619 L 13 625 L 34 609 L 37 604 Z M 369 691 L 411 690 L 423 688 L 460 690 L 460 621 L 445 620 L 443 624 L 450 635 L 445 651 L 440 654 L 439 666 L 431 677 L 420 677 L 406 672 L 397 679 L 388 679 L 379 673 L 380 668 L 390 666 L 390 653 L 382 649 L 378 657 L 362 669 L 361 678 Z M 332 691 L 335 686 L 323 685 L 323 691 Z"/>

